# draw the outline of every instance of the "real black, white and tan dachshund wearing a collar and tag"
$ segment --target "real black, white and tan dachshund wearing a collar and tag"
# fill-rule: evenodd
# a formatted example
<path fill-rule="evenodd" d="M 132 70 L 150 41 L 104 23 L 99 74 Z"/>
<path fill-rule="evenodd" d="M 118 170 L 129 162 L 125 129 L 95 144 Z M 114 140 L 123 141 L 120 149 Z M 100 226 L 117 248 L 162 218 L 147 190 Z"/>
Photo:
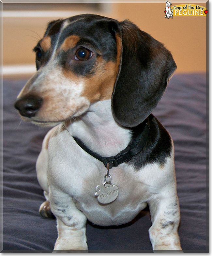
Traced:
<path fill-rule="evenodd" d="M 128 20 L 92 14 L 50 22 L 34 51 L 15 108 L 53 126 L 36 171 L 54 250 L 87 251 L 87 219 L 120 225 L 148 204 L 153 250 L 182 252 L 173 141 L 151 114 L 176 69 L 171 53 Z"/>

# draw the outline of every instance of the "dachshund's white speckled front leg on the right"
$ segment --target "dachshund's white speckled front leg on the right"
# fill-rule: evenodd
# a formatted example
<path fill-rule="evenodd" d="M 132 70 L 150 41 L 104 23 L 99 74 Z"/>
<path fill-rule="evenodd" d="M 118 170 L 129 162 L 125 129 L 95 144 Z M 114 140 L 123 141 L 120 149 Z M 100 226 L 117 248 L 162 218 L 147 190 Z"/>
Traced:
<path fill-rule="evenodd" d="M 175 193 L 170 194 L 170 191 L 156 194 L 148 202 L 152 221 L 149 237 L 154 251 L 182 250 L 177 233 L 180 222 L 178 197 Z"/>

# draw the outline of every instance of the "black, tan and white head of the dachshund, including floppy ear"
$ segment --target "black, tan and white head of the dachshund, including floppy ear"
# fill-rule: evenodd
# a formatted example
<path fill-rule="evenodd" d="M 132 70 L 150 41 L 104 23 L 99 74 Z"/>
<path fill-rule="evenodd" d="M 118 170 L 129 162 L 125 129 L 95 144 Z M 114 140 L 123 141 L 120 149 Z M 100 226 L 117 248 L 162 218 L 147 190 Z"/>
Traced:
<path fill-rule="evenodd" d="M 34 51 L 37 72 L 15 107 L 24 120 L 42 126 L 111 98 L 114 119 L 136 126 L 156 107 L 176 69 L 171 53 L 133 23 L 91 14 L 49 23 Z"/>

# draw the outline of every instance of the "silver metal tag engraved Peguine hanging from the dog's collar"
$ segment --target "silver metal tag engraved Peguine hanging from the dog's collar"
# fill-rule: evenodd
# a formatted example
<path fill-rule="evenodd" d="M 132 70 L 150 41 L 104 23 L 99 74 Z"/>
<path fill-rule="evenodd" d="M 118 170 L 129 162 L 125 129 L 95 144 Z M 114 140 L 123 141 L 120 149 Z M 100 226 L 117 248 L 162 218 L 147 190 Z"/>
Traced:
<path fill-rule="evenodd" d="M 95 196 L 98 196 L 97 199 L 100 203 L 111 203 L 116 200 L 118 196 L 118 187 L 112 184 L 105 187 L 105 184 L 107 184 L 107 182 L 97 185 Z"/>

